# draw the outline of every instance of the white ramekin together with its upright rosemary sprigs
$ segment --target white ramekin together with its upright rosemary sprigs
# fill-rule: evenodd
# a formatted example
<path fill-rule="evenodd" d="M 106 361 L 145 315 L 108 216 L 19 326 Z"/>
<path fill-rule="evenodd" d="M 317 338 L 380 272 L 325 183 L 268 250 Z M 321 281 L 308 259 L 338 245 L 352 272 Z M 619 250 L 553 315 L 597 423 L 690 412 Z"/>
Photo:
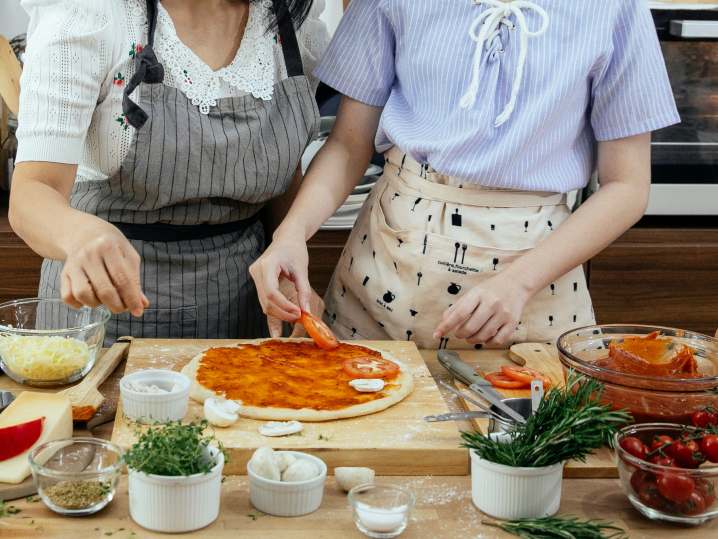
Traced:
<path fill-rule="evenodd" d="M 601 384 L 569 372 L 567 385 L 549 391 L 525 424 L 509 431 L 502 443 L 478 431 L 463 432 L 471 450 L 474 504 L 500 519 L 554 515 L 561 501 L 563 465 L 585 460 L 594 449 L 611 444 L 631 420 L 626 410 L 600 404 Z"/>

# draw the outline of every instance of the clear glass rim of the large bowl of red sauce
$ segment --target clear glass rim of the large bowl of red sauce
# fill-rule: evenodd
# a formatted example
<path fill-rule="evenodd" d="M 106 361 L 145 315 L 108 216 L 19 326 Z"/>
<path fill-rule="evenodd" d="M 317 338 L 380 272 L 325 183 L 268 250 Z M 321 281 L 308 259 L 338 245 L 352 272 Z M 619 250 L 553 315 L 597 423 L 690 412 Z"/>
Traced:
<path fill-rule="evenodd" d="M 708 385 L 708 384 L 712 384 L 714 386 L 718 385 L 718 376 L 710 376 L 708 378 L 664 378 L 664 377 L 660 377 L 660 376 L 644 376 L 642 374 L 630 374 L 630 373 L 625 373 L 625 372 L 621 372 L 621 371 L 614 371 L 612 369 L 606 369 L 604 367 L 598 367 L 598 366 L 594 365 L 593 363 L 590 363 L 588 361 L 585 361 L 583 359 L 580 359 L 580 358 L 574 356 L 572 353 L 568 352 L 566 350 L 566 348 L 564 348 L 564 346 L 563 346 L 564 339 L 566 337 L 568 337 L 569 335 L 572 335 L 577 332 L 603 329 L 603 328 L 617 328 L 617 329 L 619 329 L 619 328 L 645 328 L 646 330 L 650 329 L 651 331 L 646 331 L 647 335 L 650 333 L 653 333 L 654 331 L 660 332 L 661 330 L 667 330 L 667 331 L 671 331 L 671 332 L 683 331 L 685 335 L 695 336 L 698 338 L 698 340 L 710 342 L 710 343 L 716 345 L 716 347 L 718 348 L 718 339 L 716 339 L 715 337 L 711 337 L 710 335 L 704 335 L 703 333 L 696 333 L 695 331 L 687 331 L 687 330 L 683 330 L 683 329 L 669 328 L 669 327 L 665 327 L 665 326 L 649 326 L 646 324 L 596 324 L 593 326 L 584 326 L 584 327 L 580 327 L 580 328 L 574 328 L 569 331 L 566 331 L 565 333 L 562 333 L 559 336 L 559 338 L 556 339 L 556 348 L 558 348 L 559 359 L 561 358 L 561 356 L 565 356 L 571 362 L 577 363 L 582 368 L 584 368 L 588 371 L 588 372 L 578 371 L 579 374 L 587 374 L 589 376 L 593 376 L 595 378 L 598 378 L 602 383 L 609 383 L 609 384 L 613 384 L 613 385 L 621 386 L 621 387 L 640 389 L 642 391 L 656 391 L 656 392 L 672 391 L 675 393 L 690 393 L 690 392 L 704 391 L 703 389 L 698 389 L 704 385 Z M 630 332 L 626 332 L 626 333 L 630 333 Z M 596 334 L 596 335 L 599 335 L 599 334 Z M 616 333 L 616 335 L 618 335 L 618 332 Z M 684 337 L 681 337 L 681 338 L 684 338 Z M 591 372 L 591 371 L 593 371 L 593 372 Z M 598 374 L 599 376 L 596 376 L 596 374 Z M 620 383 L 614 382 L 612 380 L 610 380 L 610 381 L 605 380 L 600 375 L 609 375 L 609 376 L 619 375 L 622 378 L 624 378 L 626 380 L 626 382 L 628 382 L 628 383 L 620 384 Z M 654 389 L 648 389 L 648 388 L 643 387 L 642 385 L 631 385 L 630 384 L 631 381 L 634 381 L 637 383 L 644 383 L 644 384 L 646 384 L 646 383 L 656 384 L 657 383 L 659 385 L 660 384 L 671 385 L 671 384 L 676 384 L 676 383 L 680 382 L 682 385 L 685 385 L 688 389 L 686 389 L 685 391 L 680 391 L 677 389 L 668 390 L 668 389 L 662 389 L 661 387 L 656 387 Z"/>

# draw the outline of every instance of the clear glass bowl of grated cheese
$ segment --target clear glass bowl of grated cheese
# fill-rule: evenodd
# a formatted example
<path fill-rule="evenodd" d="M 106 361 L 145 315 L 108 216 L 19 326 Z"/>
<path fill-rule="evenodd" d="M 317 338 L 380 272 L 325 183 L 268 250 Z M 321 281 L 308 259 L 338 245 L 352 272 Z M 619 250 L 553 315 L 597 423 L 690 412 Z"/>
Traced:
<path fill-rule="evenodd" d="M 97 359 L 110 311 L 73 309 L 59 298 L 0 304 L 0 368 L 13 380 L 54 387 L 83 378 Z"/>

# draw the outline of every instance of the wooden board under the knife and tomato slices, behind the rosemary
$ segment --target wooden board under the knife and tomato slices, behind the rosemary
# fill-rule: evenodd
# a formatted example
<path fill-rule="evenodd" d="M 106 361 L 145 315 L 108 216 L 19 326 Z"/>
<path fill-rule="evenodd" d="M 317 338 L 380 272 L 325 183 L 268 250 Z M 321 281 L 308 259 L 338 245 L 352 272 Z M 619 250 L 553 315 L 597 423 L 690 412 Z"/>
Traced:
<path fill-rule="evenodd" d="M 541 344 L 532 346 L 539 348 L 542 353 L 535 354 L 534 357 L 526 357 L 526 366 L 550 376 L 553 382 L 552 387 L 562 387 L 564 385 L 563 369 L 558 359 L 556 347 Z M 502 365 L 515 365 L 515 362 L 510 359 L 508 350 L 458 350 L 458 352 L 461 359 L 480 376 L 500 371 Z M 462 393 L 489 406 L 488 402 L 458 380 L 454 380 L 454 385 Z M 498 391 L 507 398 L 531 397 L 531 390 L 529 389 L 499 389 Z M 465 410 L 471 412 L 480 411 L 477 406 L 465 399 L 459 400 Z M 481 432 L 488 431 L 488 419 L 472 419 L 471 423 Z M 563 475 L 564 477 L 618 477 L 614 452 L 612 449 L 604 447 L 597 450 L 594 455 L 588 455 L 586 462 L 570 461 L 564 467 Z"/>

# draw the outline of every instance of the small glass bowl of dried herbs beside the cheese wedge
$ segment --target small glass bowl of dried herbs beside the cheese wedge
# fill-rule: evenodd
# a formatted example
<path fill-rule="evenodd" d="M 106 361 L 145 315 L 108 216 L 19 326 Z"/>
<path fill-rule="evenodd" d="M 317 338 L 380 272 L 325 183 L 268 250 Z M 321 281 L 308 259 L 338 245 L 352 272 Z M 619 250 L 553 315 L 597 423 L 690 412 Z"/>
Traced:
<path fill-rule="evenodd" d="M 55 440 L 30 454 L 38 494 L 63 515 L 90 515 L 110 503 L 124 463 L 121 447 L 97 438 Z"/>

